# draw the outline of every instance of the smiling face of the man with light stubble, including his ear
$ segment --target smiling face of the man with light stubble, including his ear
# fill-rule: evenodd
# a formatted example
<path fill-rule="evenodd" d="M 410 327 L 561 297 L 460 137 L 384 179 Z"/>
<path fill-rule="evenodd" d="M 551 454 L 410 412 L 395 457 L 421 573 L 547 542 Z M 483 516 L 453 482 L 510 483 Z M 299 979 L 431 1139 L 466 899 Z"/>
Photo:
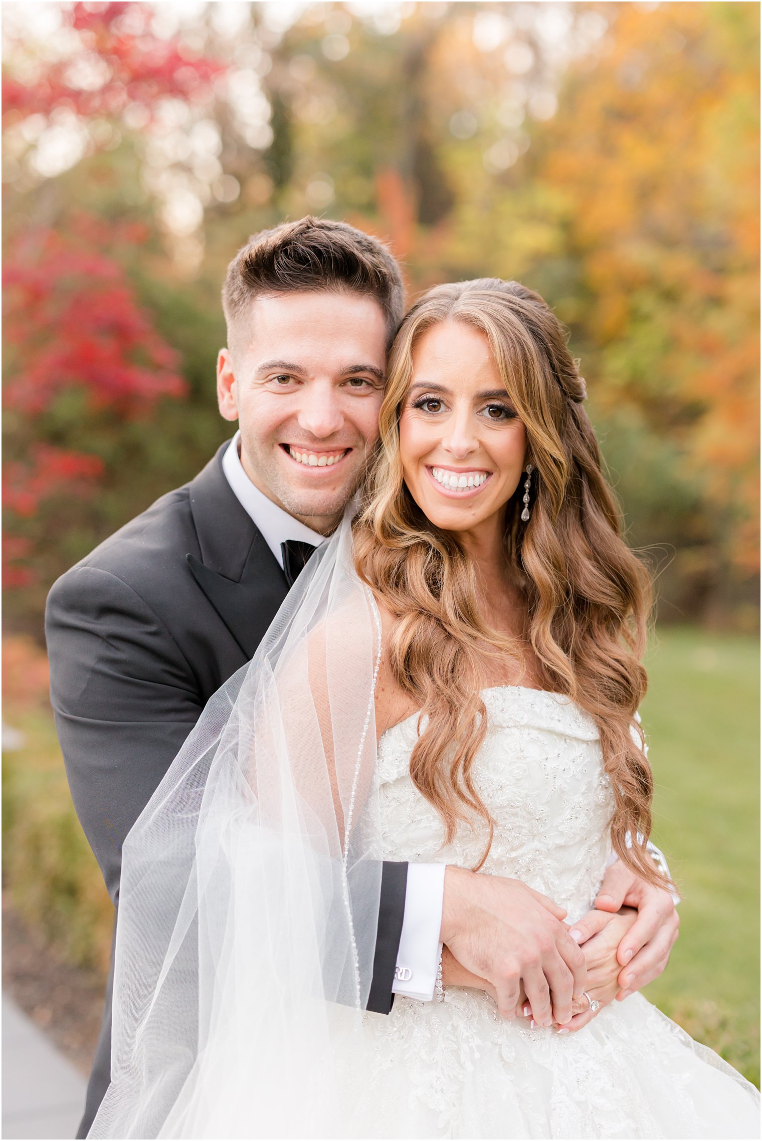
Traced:
<path fill-rule="evenodd" d="M 315 531 L 339 521 L 379 435 L 387 324 L 356 293 L 257 297 L 217 365 L 249 478 Z"/>

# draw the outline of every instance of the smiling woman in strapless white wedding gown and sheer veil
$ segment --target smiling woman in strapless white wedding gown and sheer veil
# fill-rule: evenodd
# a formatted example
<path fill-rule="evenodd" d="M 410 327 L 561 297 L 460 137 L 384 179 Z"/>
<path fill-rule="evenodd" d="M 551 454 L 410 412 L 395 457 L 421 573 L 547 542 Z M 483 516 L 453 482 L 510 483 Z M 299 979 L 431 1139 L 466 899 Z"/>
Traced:
<path fill-rule="evenodd" d="M 464 892 L 516 877 L 569 922 L 613 851 L 662 882 L 648 581 L 584 395 L 521 285 L 444 285 L 408 313 L 354 518 L 124 844 L 90 1136 L 759 1135 L 753 1086 L 641 995 L 590 989 L 584 1028 L 538 1025 L 540 969 L 497 989 L 446 917 L 438 1001 L 363 1009 L 383 859 L 462 868 Z"/>

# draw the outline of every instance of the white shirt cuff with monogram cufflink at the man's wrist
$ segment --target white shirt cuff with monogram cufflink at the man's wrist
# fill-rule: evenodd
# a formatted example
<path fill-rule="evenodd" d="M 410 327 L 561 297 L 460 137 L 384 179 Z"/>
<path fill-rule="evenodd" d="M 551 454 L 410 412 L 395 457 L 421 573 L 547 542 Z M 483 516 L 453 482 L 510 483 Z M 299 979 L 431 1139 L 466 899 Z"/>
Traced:
<path fill-rule="evenodd" d="M 391 989 L 406 998 L 431 1002 L 441 944 L 446 864 L 408 864 L 403 933 Z"/>

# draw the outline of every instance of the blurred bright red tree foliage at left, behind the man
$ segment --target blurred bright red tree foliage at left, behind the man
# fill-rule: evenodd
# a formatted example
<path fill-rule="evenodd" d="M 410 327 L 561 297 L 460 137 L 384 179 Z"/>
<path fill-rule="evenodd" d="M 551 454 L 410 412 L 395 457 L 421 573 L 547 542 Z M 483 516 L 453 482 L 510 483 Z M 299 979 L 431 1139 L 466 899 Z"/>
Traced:
<path fill-rule="evenodd" d="M 55 121 L 67 111 L 87 126 L 119 122 L 136 104 L 149 119 L 165 97 L 209 99 L 220 65 L 177 37 L 155 35 L 152 15 L 151 6 L 133 2 L 63 7 L 78 47 L 26 82 L 14 74 L 11 49 L 3 131 L 30 115 Z M 62 446 L 35 426 L 71 394 L 88 413 L 135 420 L 148 416 L 160 398 L 186 391 L 178 355 L 156 332 L 123 264 L 122 254 L 149 236 L 147 227 L 71 209 L 54 225 L 30 225 L 23 213 L 21 225 L 14 219 L 7 227 L 3 270 L 3 406 L 13 426 L 3 467 L 3 559 L 11 589 L 39 577 L 31 567 L 29 520 L 50 501 L 91 494 L 105 474 L 99 455 Z"/>

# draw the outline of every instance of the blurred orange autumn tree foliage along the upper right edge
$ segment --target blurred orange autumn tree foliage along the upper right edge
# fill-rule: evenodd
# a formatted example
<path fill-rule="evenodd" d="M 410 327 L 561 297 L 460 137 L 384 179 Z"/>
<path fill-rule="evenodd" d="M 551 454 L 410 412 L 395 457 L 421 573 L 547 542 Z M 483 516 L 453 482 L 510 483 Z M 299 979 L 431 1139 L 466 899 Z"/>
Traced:
<path fill-rule="evenodd" d="M 759 9 L 605 10 L 540 179 L 564 203 L 603 404 L 679 444 L 741 577 L 759 566 Z"/>

